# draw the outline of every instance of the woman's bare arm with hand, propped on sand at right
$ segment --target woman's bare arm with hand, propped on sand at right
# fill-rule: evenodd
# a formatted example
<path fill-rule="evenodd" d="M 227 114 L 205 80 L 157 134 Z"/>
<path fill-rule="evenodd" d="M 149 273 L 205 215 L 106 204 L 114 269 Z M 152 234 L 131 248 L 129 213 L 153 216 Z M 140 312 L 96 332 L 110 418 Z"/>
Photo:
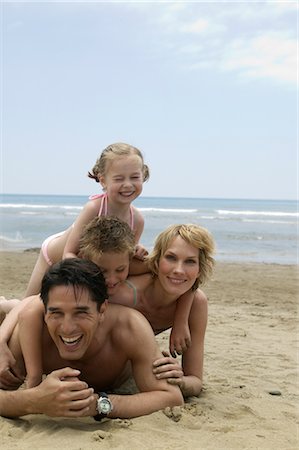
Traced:
<path fill-rule="evenodd" d="M 154 374 L 180 387 L 184 397 L 199 395 L 202 389 L 204 337 L 208 320 L 208 301 L 196 291 L 189 317 L 192 344 L 182 356 L 182 364 L 163 352 L 164 358 L 154 361 Z"/>

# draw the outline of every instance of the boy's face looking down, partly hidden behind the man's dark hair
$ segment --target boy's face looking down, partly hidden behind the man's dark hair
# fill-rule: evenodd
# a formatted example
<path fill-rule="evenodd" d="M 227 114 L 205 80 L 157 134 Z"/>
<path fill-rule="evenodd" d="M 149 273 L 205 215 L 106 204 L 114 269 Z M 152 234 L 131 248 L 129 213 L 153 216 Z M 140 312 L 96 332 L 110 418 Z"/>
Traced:
<path fill-rule="evenodd" d="M 108 296 L 114 295 L 129 274 L 129 253 L 105 252 L 100 258 L 93 258 L 104 275 Z"/>

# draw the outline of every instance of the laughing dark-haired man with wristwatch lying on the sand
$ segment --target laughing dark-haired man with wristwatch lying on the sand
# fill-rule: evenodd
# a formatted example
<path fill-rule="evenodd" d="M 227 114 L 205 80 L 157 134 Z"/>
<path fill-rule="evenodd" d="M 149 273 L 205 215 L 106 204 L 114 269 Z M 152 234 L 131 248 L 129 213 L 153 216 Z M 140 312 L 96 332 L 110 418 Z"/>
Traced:
<path fill-rule="evenodd" d="M 152 363 L 161 353 L 149 323 L 131 308 L 108 304 L 105 280 L 94 263 L 75 258 L 52 266 L 40 296 L 45 306 L 43 369 L 49 375 L 34 388 L 0 390 L 0 415 L 100 420 L 183 403 L 177 386 L 153 374 Z M 18 326 L 9 347 L 24 373 Z M 111 393 L 128 377 L 129 367 L 140 392 Z"/>

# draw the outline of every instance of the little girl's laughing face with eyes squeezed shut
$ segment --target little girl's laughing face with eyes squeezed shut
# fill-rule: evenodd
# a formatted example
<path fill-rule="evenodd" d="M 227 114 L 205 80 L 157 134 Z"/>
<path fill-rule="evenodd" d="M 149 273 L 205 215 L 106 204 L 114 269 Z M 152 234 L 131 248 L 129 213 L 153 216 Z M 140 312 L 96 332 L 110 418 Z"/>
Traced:
<path fill-rule="evenodd" d="M 138 155 L 116 158 L 107 166 L 106 175 L 100 182 L 108 197 L 131 203 L 142 192 L 142 161 Z"/>

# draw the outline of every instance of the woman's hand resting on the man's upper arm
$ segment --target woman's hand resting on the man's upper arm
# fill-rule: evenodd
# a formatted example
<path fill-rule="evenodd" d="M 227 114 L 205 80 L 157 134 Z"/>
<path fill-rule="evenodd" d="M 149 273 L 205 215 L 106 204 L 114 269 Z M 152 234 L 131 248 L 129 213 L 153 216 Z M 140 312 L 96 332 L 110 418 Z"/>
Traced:
<path fill-rule="evenodd" d="M 175 384 L 183 388 L 184 372 L 177 359 L 170 356 L 169 352 L 162 351 L 164 358 L 156 359 L 153 363 L 153 373 L 158 380 L 166 379 L 167 383 Z"/>

